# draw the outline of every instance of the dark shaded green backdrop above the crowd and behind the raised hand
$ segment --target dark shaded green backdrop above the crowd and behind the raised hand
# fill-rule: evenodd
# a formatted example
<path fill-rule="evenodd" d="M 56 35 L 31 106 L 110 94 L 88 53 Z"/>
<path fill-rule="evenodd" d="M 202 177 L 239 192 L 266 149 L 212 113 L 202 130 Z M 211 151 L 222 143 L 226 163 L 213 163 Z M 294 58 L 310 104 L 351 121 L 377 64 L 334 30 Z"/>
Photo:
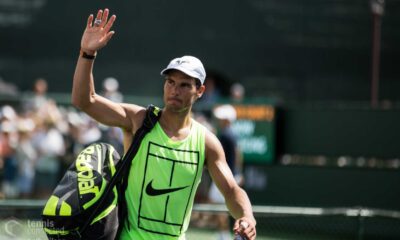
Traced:
<path fill-rule="evenodd" d="M 96 60 L 125 94 L 154 95 L 159 71 L 192 54 L 252 96 L 282 101 L 370 98 L 369 1 L 1 1 L 0 76 L 30 89 L 38 76 L 69 92 L 89 13 L 109 7 L 116 35 Z M 381 99 L 399 100 L 400 1 L 386 1 Z M 23 16 L 22 20 L 18 15 Z M 13 20 L 14 19 L 14 20 Z M 25 20 L 24 20 L 25 19 Z M 140 84 L 140 87 L 138 87 Z"/>

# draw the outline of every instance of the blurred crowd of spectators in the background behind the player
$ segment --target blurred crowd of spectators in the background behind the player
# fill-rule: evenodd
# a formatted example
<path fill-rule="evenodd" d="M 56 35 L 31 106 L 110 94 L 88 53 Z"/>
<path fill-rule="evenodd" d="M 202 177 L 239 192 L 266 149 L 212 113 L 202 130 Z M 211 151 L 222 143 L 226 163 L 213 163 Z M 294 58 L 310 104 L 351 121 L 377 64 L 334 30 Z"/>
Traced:
<path fill-rule="evenodd" d="M 106 78 L 102 87 L 99 94 L 123 101 L 115 78 Z M 110 143 L 123 154 L 121 129 L 98 124 L 70 105 L 58 105 L 47 89 L 46 80 L 37 79 L 29 97 L 0 105 L 0 199 L 47 198 L 78 153 L 93 142 Z M 219 96 L 209 87 L 201 101 L 213 104 Z M 196 118 L 216 131 L 209 116 Z"/>

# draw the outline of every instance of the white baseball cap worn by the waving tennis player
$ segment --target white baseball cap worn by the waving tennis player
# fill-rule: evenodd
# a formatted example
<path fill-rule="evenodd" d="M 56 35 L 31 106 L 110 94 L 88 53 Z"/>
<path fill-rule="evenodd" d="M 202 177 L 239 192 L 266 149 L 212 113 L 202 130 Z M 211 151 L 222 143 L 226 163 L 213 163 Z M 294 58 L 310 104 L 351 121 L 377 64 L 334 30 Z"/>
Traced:
<path fill-rule="evenodd" d="M 203 64 L 198 58 L 193 56 L 183 56 L 172 59 L 167 68 L 161 71 L 161 75 L 165 75 L 166 71 L 171 69 L 179 70 L 191 77 L 197 78 L 200 80 L 201 84 L 204 84 L 206 79 L 206 71 L 204 70 Z"/>

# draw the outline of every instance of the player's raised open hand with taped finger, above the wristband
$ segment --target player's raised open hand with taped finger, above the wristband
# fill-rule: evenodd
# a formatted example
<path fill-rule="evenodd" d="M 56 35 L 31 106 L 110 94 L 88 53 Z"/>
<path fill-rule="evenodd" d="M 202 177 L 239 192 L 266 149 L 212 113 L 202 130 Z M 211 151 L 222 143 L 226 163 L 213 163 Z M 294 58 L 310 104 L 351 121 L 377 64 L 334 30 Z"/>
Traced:
<path fill-rule="evenodd" d="M 104 11 L 100 9 L 97 12 L 96 19 L 94 19 L 93 14 L 90 14 L 81 40 L 82 51 L 95 54 L 97 50 L 103 48 L 110 41 L 115 33 L 110 29 L 116 16 L 112 15 L 108 18 L 108 14 L 109 10 L 107 8 Z"/>

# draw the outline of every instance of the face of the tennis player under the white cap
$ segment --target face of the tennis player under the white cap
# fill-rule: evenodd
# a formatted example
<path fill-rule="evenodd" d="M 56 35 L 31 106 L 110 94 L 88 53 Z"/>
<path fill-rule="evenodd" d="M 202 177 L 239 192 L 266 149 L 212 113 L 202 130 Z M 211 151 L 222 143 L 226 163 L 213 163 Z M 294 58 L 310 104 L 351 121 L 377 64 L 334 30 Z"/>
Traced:
<path fill-rule="evenodd" d="M 165 77 L 164 103 L 174 112 L 185 111 L 203 95 L 205 87 L 196 88 L 196 80 L 181 71 L 171 70 Z"/>

